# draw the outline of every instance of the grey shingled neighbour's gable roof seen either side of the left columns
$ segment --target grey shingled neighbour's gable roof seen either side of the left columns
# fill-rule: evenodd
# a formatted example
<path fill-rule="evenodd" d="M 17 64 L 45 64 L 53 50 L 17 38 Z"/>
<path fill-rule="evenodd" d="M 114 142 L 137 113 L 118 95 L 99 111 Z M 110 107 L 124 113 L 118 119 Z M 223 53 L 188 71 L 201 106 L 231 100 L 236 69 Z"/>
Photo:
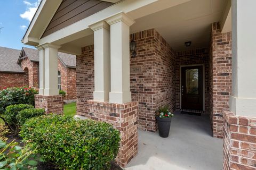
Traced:
<path fill-rule="evenodd" d="M 31 62 L 39 62 L 39 52 L 37 49 L 22 47 L 17 64 L 20 64 L 23 57 L 28 57 Z M 65 67 L 76 67 L 76 56 L 58 52 L 58 58 Z"/>

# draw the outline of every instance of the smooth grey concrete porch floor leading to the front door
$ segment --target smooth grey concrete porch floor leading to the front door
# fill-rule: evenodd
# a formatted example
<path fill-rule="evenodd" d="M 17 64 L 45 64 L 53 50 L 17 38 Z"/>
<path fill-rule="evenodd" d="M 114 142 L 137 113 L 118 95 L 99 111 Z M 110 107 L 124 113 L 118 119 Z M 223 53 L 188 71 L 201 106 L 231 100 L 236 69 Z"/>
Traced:
<path fill-rule="evenodd" d="M 126 170 L 222 169 L 222 139 L 211 136 L 209 116 L 174 115 L 168 138 L 139 130 L 139 152 Z"/>

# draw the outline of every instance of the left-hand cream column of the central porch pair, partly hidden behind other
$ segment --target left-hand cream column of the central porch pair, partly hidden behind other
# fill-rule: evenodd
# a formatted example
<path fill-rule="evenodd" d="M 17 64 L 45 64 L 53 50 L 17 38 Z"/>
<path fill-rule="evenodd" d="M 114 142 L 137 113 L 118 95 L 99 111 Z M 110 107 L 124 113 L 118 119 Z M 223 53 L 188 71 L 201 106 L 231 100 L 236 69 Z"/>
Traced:
<path fill-rule="evenodd" d="M 94 31 L 94 92 L 93 100 L 109 101 L 110 91 L 110 31 L 101 21 L 90 25 Z"/>

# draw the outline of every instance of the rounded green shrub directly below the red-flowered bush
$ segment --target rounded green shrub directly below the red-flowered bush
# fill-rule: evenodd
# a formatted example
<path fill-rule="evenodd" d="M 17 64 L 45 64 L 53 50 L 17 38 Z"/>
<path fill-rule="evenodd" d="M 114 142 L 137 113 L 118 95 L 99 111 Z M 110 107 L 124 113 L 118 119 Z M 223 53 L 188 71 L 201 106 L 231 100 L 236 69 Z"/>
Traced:
<path fill-rule="evenodd" d="M 4 118 L 6 123 L 9 126 L 17 127 L 18 125 L 18 120 L 17 120 L 17 115 L 20 111 L 23 111 L 24 109 L 28 108 L 34 108 L 34 106 L 31 105 L 25 105 L 25 104 L 20 104 L 20 105 L 11 105 L 6 107 L 6 111 L 4 112 Z M 16 129 L 16 128 L 14 128 Z"/>

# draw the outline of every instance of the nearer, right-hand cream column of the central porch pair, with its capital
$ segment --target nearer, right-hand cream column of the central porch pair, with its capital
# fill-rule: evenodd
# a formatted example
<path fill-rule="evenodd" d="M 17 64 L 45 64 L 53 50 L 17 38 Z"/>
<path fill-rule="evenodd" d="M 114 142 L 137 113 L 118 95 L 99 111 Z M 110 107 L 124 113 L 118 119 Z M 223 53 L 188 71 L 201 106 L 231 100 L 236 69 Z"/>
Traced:
<path fill-rule="evenodd" d="M 130 92 L 130 26 L 134 21 L 125 13 L 108 18 L 110 24 L 110 65 L 111 92 L 110 103 L 131 101 Z"/>

